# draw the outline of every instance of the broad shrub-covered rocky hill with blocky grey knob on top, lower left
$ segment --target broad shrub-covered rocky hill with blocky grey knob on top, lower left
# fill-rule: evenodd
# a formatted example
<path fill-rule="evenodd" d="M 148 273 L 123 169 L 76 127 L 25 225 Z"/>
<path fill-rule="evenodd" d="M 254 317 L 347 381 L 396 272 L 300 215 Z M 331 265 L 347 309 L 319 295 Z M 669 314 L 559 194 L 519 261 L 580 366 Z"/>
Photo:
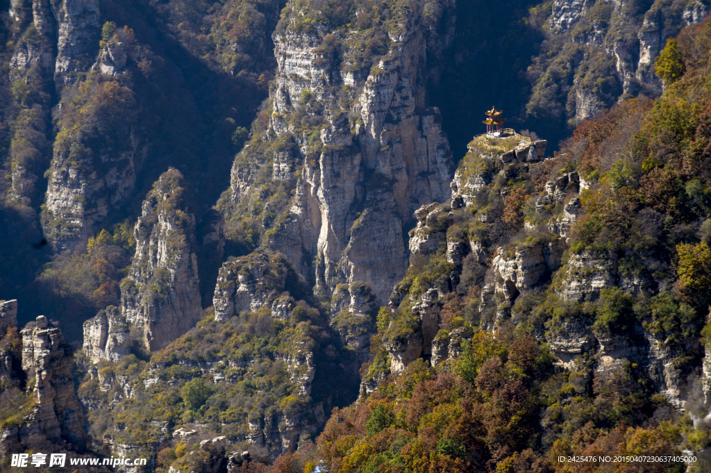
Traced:
<path fill-rule="evenodd" d="M 220 270 L 214 318 L 157 351 L 151 363 L 129 355 L 89 370 L 80 397 L 92 406 L 93 435 L 114 452 L 220 435 L 237 451 L 272 459 L 313 439 L 333 396 L 355 386 L 341 373 L 346 362 L 336 358 L 328 319 L 297 299 L 315 304 L 309 292 L 280 253 L 230 258 Z M 227 422 L 215 422 L 223 415 Z"/>

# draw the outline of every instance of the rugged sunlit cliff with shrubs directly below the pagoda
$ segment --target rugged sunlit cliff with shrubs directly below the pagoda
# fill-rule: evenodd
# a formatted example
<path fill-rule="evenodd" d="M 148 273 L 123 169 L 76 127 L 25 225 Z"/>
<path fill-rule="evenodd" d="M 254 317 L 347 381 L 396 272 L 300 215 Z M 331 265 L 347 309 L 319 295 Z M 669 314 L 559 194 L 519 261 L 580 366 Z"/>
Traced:
<path fill-rule="evenodd" d="M 386 318 L 379 316 L 383 351 L 371 361 L 362 395 L 384 373 L 403 373 L 418 358 L 451 369 L 447 362 L 461 357 L 472 329 L 497 332 L 523 324 L 550 344 L 561 369 L 575 371 L 589 359 L 588 376 L 607 379 L 628 369 L 625 363 L 636 363 L 668 403 L 695 405 L 694 383 L 701 381 L 688 366 L 680 368 L 680 360 L 687 356 L 700 366 L 702 347 L 688 336 L 670 336 L 654 321 L 668 317 L 657 310 L 679 314 L 688 307 L 666 292 L 664 263 L 636 260 L 634 250 L 577 243 L 580 220 L 589 221 L 581 193 L 589 195 L 596 184 L 556 164 L 575 153 L 566 152 L 539 161 L 523 150 L 492 154 L 472 146 L 455 173 L 451 201 L 415 211 L 410 270 L 392 291 Z M 530 179 L 540 176 L 547 181 L 534 187 Z M 649 214 L 643 210 L 638 220 Z M 657 268 L 654 275 L 650 265 Z M 646 302 L 626 319 L 632 297 Z M 559 308 L 543 309 L 546 304 Z M 651 308 L 659 304 L 667 309 Z M 603 316 L 606 307 L 623 312 Z M 537 318 L 551 317 L 542 316 L 547 310 L 557 312 L 542 326 Z M 685 330 L 700 328 L 694 320 Z"/>

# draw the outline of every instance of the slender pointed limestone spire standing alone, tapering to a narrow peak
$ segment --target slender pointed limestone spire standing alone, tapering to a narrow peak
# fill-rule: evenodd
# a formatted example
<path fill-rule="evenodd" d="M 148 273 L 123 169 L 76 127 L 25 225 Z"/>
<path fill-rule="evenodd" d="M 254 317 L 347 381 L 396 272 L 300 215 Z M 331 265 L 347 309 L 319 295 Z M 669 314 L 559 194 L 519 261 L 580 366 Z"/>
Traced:
<path fill-rule="evenodd" d="M 143 203 L 134 229 L 136 254 L 121 285 L 122 314 L 155 351 L 201 318 L 195 217 L 183 201 L 186 184 L 166 171 Z"/>

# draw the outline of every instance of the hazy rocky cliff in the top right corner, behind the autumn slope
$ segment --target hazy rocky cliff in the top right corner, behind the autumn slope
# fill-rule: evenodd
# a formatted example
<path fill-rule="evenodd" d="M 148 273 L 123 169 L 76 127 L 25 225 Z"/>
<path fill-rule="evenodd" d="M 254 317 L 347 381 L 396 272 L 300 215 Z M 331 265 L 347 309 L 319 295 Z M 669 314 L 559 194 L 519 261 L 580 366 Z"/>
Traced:
<path fill-rule="evenodd" d="M 534 82 L 528 112 L 550 117 L 565 112 L 578 124 L 618 97 L 655 97 L 661 83 L 654 75 L 654 60 L 667 38 L 698 23 L 708 11 L 709 3 L 702 0 L 553 1 L 545 55 L 528 70 Z M 546 94 L 560 95 L 559 102 L 551 106 Z M 546 106 L 548 111 L 539 108 Z"/>

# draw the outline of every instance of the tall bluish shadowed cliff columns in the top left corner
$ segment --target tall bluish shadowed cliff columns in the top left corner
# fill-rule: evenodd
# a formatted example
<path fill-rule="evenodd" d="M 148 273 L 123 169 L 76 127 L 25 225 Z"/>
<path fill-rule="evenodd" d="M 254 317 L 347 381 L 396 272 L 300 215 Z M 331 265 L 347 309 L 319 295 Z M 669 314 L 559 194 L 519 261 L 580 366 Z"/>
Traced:
<path fill-rule="evenodd" d="M 16 44 L 10 59 L 10 80 L 18 102 L 14 144 L 11 149 L 9 196 L 25 205 L 38 206 L 37 192 L 44 188 L 48 168 L 50 109 L 66 85 L 77 80 L 92 64 L 98 48 L 99 3 L 66 0 L 56 5 L 20 2 L 10 9 Z"/>

